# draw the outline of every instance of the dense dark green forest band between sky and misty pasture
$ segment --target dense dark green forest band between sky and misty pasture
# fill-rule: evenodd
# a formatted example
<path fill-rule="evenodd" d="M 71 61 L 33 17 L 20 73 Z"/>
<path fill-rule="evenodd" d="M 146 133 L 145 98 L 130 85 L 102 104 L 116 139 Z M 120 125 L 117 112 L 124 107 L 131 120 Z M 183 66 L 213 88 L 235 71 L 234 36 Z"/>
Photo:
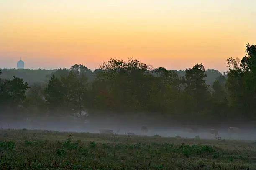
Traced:
<path fill-rule="evenodd" d="M 256 120 L 256 45 L 246 44 L 246 56 L 228 58 L 227 66 L 223 74 L 202 64 L 184 71 L 151 69 L 130 57 L 112 58 L 93 72 L 84 65 L 3 69 L 0 113 L 18 119 L 143 115 L 161 122 Z"/>

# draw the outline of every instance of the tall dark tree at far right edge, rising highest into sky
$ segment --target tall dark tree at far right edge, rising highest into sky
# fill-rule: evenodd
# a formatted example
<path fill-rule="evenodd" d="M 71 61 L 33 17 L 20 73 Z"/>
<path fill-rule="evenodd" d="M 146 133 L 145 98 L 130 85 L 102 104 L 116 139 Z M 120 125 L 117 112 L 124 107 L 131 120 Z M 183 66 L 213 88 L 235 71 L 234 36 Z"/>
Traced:
<path fill-rule="evenodd" d="M 226 91 L 231 107 L 241 118 L 256 117 L 256 45 L 246 44 L 240 67 L 227 72 Z"/>

